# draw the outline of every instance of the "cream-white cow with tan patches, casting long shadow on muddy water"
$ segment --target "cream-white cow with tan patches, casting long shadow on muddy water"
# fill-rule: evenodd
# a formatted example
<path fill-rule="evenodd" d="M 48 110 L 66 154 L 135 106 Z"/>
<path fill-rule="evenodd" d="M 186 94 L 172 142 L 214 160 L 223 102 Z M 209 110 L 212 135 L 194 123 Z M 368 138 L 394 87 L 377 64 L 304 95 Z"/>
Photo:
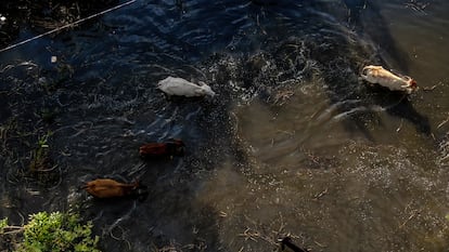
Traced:
<path fill-rule="evenodd" d="M 397 76 L 382 66 L 365 66 L 361 72 L 361 78 L 370 83 L 377 83 L 392 91 L 402 91 L 408 94 L 418 89 L 416 81 L 408 76 Z"/>

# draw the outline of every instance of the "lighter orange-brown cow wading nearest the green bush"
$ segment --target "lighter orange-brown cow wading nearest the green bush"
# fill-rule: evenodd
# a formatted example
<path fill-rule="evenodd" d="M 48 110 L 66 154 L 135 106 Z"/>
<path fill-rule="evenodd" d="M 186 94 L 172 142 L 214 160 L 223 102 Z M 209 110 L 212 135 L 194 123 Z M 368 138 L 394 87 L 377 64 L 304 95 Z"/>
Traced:
<path fill-rule="evenodd" d="M 82 189 L 97 198 L 114 198 L 133 195 L 139 183 L 124 184 L 110 178 L 98 178 L 88 182 Z"/>

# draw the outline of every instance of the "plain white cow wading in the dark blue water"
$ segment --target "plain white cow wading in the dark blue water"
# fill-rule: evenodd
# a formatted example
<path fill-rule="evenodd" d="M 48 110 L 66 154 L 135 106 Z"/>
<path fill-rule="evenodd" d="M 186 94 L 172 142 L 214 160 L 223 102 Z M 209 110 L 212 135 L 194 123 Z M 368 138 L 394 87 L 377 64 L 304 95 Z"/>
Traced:
<path fill-rule="evenodd" d="M 182 78 L 176 77 L 167 77 L 164 80 L 161 80 L 157 83 L 157 89 L 162 90 L 164 93 L 170 96 L 215 96 L 215 92 L 203 81 L 200 81 L 198 84 L 195 84 Z"/>

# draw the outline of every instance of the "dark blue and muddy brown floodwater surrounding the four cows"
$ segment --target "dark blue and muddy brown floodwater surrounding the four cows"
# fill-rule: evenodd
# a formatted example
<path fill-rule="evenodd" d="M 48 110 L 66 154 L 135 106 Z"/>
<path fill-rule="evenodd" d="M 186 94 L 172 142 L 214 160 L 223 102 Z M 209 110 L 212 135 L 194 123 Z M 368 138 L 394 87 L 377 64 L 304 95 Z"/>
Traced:
<path fill-rule="evenodd" d="M 75 208 L 111 252 L 277 251 L 285 236 L 308 251 L 448 251 L 448 12 L 137 1 L 1 52 L 0 217 Z M 39 32 L 21 24 L 8 44 Z M 420 90 L 367 85 L 371 64 Z M 167 100 L 167 76 L 217 96 Z M 184 157 L 139 158 L 170 137 Z M 30 172 L 39 141 L 50 169 Z M 98 177 L 149 196 L 95 200 L 80 186 Z"/>

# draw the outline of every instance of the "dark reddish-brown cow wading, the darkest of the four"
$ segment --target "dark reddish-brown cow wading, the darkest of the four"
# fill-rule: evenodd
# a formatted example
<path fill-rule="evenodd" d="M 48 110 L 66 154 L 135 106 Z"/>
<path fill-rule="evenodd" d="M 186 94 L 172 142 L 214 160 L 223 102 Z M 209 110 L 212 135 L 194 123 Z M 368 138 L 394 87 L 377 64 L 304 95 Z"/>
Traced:
<path fill-rule="evenodd" d="M 182 156 L 184 143 L 181 140 L 170 140 L 165 143 L 149 143 L 140 146 L 139 155 L 142 158 L 162 158 Z"/>

